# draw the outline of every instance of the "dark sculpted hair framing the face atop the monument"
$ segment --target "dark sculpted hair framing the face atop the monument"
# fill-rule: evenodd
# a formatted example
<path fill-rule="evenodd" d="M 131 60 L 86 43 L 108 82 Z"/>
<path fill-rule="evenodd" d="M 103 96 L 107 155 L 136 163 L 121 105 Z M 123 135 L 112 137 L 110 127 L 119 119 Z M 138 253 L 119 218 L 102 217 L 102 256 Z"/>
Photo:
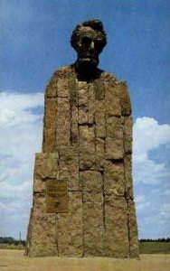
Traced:
<path fill-rule="evenodd" d="M 99 20 L 89 20 L 89 21 L 85 21 L 84 23 L 78 24 L 75 27 L 75 29 L 73 30 L 72 35 L 71 35 L 71 46 L 75 50 L 77 50 L 77 44 L 78 44 L 78 41 L 79 41 L 80 28 L 83 27 L 83 26 L 89 26 L 93 30 L 96 30 L 96 31 L 102 33 L 102 35 L 103 35 L 103 48 L 104 48 L 105 45 L 107 44 L 107 35 L 106 35 L 105 31 L 104 31 L 103 24 Z"/>

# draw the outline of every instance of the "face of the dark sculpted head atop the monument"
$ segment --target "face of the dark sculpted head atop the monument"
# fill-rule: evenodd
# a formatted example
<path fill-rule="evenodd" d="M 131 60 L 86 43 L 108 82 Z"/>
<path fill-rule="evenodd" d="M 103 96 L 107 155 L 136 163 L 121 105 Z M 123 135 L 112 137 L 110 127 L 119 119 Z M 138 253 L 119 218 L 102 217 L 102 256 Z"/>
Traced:
<path fill-rule="evenodd" d="M 104 45 L 103 34 L 89 26 L 82 26 L 78 35 L 76 51 L 81 65 L 98 66 L 99 53 Z"/>

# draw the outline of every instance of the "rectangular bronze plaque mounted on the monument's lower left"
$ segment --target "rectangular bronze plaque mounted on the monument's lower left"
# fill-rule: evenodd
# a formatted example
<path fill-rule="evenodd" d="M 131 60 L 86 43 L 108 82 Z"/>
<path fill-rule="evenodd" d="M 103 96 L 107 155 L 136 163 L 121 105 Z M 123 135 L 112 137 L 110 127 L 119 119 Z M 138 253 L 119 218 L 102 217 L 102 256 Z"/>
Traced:
<path fill-rule="evenodd" d="M 48 179 L 46 181 L 46 211 L 68 212 L 67 180 Z"/>

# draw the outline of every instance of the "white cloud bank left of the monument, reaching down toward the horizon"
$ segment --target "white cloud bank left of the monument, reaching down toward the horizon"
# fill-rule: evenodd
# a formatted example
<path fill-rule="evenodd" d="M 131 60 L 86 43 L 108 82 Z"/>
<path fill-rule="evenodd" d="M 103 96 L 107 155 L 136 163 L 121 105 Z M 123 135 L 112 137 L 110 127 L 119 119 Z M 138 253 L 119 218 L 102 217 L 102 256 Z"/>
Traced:
<path fill-rule="evenodd" d="M 13 223 L 19 225 L 24 217 L 25 229 L 28 222 L 32 201 L 34 154 L 41 152 L 42 145 L 42 113 L 39 113 L 38 109 L 42 107 L 43 111 L 43 94 L 3 92 L 0 99 L 0 198 L 1 216 L 4 220 L 1 231 L 5 234 L 5 227 L 9 229 L 5 226 L 5 221 L 9 223 L 9 220 L 14 218 Z"/>

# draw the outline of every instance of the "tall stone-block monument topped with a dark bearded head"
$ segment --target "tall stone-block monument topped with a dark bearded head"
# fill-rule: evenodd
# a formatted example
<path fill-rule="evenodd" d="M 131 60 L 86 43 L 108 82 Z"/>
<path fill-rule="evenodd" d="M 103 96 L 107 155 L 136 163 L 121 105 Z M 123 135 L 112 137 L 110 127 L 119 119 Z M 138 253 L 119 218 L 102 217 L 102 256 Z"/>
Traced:
<path fill-rule="evenodd" d="M 98 68 L 106 43 L 99 20 L 77 25 L 77 61 L 47 85 L 29 257 L 138 257 L 130 98 L 126 82 Z"/>

